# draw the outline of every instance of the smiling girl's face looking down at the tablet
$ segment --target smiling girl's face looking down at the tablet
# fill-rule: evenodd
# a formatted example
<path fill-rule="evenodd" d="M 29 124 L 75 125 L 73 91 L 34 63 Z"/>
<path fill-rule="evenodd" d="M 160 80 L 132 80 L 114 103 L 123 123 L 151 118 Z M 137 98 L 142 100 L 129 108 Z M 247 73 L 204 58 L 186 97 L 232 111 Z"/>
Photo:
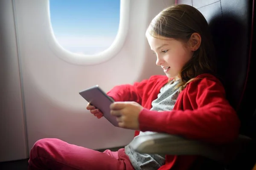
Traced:
<path fill-rule="evenodd" d="M 191 59 L 193 50 L 189 45 L 173 38 L 155 38 L 149 34 L 146 34 L 146 37 L 151 50 L 157 56 L 156 64 L 163 68 L 167 77 L 177 77 L 183 66 Z"/>

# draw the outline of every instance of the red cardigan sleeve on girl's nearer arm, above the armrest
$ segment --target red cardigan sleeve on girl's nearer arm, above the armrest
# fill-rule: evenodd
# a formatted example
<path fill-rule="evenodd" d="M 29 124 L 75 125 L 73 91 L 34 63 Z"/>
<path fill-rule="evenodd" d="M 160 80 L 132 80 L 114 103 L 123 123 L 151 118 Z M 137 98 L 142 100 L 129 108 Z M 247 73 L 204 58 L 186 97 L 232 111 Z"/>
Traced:
<path fill-rule="evenodd" d="M 183 105 L 189 101 L 193 109 L 157 112 L 144 108 L 139 115 L 140 130 L 216 144 L 238 136 L 239 118 L 225 98 L 221 82 L 204 78 L 190 82 L 183 91 Z"/>

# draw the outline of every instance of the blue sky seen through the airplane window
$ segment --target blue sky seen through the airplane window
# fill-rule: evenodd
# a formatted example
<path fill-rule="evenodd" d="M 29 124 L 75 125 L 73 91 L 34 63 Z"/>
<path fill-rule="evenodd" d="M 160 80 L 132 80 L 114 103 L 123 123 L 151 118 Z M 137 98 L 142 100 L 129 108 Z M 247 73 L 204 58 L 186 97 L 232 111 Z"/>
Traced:
<path fill-rule="evenodd" d="M 69 51 L 95 54 L 116 37 L 120 0 L 49 0 L 49 5 L 55 37 Z"/>

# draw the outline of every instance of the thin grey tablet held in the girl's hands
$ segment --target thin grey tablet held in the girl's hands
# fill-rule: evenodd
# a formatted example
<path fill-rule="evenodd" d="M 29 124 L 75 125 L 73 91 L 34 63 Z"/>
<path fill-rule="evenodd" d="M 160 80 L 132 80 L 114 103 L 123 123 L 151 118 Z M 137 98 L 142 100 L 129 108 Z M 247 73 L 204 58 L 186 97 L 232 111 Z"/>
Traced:
<path fill-rule="evenodd" d="M 98 108 L 102 113 L 103 116 L 111 122 L 112 125 L 119 127 L 118 122 L 116 121 L 116 116 L 112 116 L 110 114 L 110 105 L 111 103 L 115 102 L 111 97 L 109 97 L 99 85 L 95 85 L 91 88 L 87 88 L 83 91 L 80 91 L 79 94 L 90 103 L 90 105 L 95 106 Z"/>

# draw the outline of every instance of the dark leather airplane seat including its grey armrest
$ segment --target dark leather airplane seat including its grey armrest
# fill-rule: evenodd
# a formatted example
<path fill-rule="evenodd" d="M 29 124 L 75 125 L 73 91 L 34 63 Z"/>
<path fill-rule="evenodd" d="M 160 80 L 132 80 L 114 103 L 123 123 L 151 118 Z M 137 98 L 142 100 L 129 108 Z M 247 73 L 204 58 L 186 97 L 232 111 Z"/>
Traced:
<path fill-rule="evenodd" d="M 206 18 L 215 45 L 218 75 L 227 99 L 241 121 L 240 135 L 221 146 L 164 133 L 139 136 L 131 147 L 140 153 L 199 155 L 203 169 L 251 170 L 256 163 L 256 73 L 254 0 L 176 0 L 197 8 Z M 216 166 L 214 166 L 214 164 Z M 212 167 L 211 167 L 212 166 Z M 211 168 L 210 168 L 211 167 Z M 213 168 L 214 167 L 214 168 Z"/>

